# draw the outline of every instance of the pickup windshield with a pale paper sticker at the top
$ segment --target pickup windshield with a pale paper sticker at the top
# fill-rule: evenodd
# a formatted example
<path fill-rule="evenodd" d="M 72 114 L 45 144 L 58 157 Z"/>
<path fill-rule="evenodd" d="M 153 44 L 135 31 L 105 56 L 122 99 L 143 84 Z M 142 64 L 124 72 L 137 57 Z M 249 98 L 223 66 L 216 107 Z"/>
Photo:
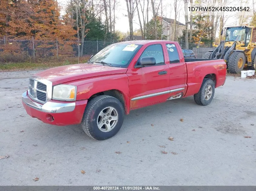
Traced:
<path fill-rule="evenodd" d="M 140 44 L 128 43 L 111 44 L 95 54 L 89 61 L 92 63 L 106 63 L 111 66 L 126 68 L 141 46 Z"/>

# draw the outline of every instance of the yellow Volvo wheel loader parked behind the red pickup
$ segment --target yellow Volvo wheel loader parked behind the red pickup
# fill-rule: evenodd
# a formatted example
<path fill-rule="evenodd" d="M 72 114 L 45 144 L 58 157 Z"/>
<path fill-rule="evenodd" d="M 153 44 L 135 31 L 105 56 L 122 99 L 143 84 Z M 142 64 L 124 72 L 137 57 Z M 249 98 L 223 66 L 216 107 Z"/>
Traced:
<path fill-rule="evenodd" d="M 221 35 L 223 30 L 221 31 Z M 224 39 L 216 49 L 203 55 L 204 59 L 224 59 L 231 73 L 239 73 L 244 65 L 256 69 L 256 28 L 252 26 L 226 27 Z"/>

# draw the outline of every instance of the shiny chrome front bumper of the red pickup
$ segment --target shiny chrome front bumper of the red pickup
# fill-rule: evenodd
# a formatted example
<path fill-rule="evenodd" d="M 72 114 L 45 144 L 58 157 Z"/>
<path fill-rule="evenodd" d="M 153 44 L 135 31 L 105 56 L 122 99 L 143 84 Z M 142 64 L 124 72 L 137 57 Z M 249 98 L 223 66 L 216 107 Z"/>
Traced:
<path fill-rule="evenodd" d="M 27 96 L 27 91 L 22 94 L 22 101 L 28 106 L 38 111 L 47 113 L 64 113 L 75 110 L 75 102 L 59 103 L 48 101 L 45 104 L 37 103 Z"/>

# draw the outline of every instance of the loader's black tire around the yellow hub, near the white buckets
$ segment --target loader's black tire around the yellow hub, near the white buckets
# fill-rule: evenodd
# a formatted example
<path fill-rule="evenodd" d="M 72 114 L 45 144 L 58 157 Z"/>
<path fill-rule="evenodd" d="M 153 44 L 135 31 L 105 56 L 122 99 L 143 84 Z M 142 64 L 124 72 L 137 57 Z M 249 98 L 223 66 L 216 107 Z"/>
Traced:
<path fill-rule="evenodd" d="M 238 68 L 238 60 L 239 59 L 243 60 L 241 68 Z M 231 54 L 231 56 L 228 59 L 228 70 L 230 73 L 238 74 L 239 72 L 241 72 L 243 70 L 244 64 L 245 64 L 244 53 L 234 52 Z"/>

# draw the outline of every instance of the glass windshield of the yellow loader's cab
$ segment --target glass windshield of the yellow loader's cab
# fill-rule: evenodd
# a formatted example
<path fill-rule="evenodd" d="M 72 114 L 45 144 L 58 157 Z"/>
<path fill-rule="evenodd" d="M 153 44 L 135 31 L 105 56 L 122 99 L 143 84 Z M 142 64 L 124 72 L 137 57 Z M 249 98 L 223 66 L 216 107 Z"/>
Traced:
<path fill-rule="evenodd" d="M 226 42 L 228 41 L 244 41 L 245 28 L 242 27 L 230 27 L 226 32 Z"/>

